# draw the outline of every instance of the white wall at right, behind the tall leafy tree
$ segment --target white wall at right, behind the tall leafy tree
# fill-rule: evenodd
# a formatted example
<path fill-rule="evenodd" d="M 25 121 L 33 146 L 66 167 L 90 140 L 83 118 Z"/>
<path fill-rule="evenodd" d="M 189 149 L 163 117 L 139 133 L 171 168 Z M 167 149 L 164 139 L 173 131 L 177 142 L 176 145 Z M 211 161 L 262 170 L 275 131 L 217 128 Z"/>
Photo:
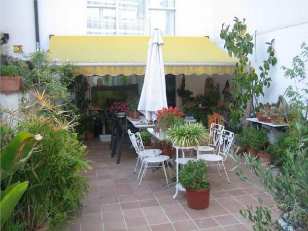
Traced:
<path fill-rule="evenodd" d="M 233 24 L 234 16 L 245 18 L 247 32 L 256 36 L 256 52 L 250 56 L 252 65 L 256 67 L 263 64 L 268 58 L 266 52 L 268 45 L 265 42 L 274 40 L 274 48 L 278 63 L 270 71 L 273 82 L 265 90 L 265 97 L 261 102 L 276 102 L 279 95 L 283 95 L 287 86 L 294 81 L 284 78 L 281 66 L 291 66 L 292 58 L 300 54 L 300 45 L 303 41 L 308 43 L 308 1 L 213 1 L 213 39 L 212 41 L 223 48 L 219 37 L 221 24 Z M 256 54 L 256 57 L 255 57 Z M 255 61 L 256 59 L 256 61 Z"/>

